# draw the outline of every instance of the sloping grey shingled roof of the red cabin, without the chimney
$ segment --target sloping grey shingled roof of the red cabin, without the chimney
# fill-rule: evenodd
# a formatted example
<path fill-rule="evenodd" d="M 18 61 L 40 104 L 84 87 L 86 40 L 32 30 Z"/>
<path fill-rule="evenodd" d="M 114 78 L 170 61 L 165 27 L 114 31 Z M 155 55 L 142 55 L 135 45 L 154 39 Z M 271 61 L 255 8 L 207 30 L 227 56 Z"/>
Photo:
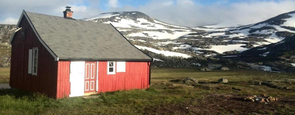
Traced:
<path fill-rule="evenodd" d="M 61 60 L 151 61 L 111 24 L 26 12 L 40 38 Z"/>

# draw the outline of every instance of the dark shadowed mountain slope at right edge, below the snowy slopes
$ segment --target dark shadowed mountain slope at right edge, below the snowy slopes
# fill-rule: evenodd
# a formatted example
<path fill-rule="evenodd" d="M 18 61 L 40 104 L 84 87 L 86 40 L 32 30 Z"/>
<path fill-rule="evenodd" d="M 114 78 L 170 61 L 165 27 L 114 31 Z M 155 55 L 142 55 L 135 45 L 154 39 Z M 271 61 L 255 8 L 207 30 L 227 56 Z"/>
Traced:
<path fill-rule="evenodd" d="M 272 71 L 295 71 L 295 35 L 286 37 L 278 43 L 255 47 L 241 53 L 219 55 L 215 58 L 270 67 Z"/>

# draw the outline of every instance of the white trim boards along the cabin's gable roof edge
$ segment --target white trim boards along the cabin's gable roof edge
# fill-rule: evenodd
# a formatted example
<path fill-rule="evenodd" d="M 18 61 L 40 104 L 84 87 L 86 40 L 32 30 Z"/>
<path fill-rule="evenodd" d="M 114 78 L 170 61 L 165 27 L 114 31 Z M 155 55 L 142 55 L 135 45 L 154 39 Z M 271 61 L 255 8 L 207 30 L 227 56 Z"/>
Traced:
<path fill-rule="evenodd" d="M 41 44 L 42 44 L 42 45 L 47 49 L 47 51 L 49 51 L 49 53 L 54 57 L 54 60 L 55 60 L 55 61 L 58 61 L 58 57 L 57 57 L 57 56 L 54 54 L 54 52 L 53 52 L 53 51 L 52 51 L 52 50 L 51 50 L 51 49 L 45 44 L 45 42 L 40 38 L 39 34 L 37 33 L 35 27 L 33 26 L 31 20 L 29 19 L 29 17 L 27 16 L 27 14 L 26 14 L 26 12 L 25 12 L 24 10 L 22 11 L 22 15 L 19 17 L 19 21 L 17 22 L 16 27 L 19 26 L 19 23 L 20 23 L 20 21 L 22 20 L 22 17 L 23 17 L 23 16 L 26 17 L 27 21 L 28 21 L 29 24 L 31 25 L 33 31 L 35 32 L 35 34 L 36 34 L 37 38 L 39 39 L 39 41 L 41 42 Z M 15 32 L 12 34 L 11 39 L 10 39 L 10 41 L 9 41 L 9 44 L 11 44 L 12 39 L 14 38 L 14 34 L 15 34 Z"/>

